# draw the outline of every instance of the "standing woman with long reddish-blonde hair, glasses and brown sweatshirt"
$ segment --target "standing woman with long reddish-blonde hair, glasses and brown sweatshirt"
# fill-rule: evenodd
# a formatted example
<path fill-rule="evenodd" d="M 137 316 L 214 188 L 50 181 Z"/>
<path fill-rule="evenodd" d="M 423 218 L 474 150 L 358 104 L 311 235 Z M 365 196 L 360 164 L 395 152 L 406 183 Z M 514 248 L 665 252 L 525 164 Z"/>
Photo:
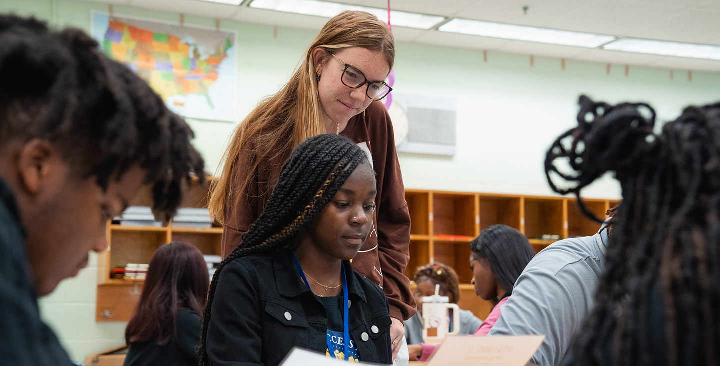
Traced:
<path fill-rule="evenodd" d="M 410 261 L 410 212 L 392 122 L 380 102 L 392 90 L 384 80 L 394 63 L 395 40 L 377 17 L 342 12 L 330 19 L 288 84 L 238 126 L 210 198 L 210 213 L 223 224 L 222 254 L 228 256 L 263 212 L 296 146 L 321 133 L 359 144 L 377 177 L 377 210 L 353 267 L 384 290 L 391 340 L 402 344 L 402 321 L 415 313 L 404 274 Z"/>

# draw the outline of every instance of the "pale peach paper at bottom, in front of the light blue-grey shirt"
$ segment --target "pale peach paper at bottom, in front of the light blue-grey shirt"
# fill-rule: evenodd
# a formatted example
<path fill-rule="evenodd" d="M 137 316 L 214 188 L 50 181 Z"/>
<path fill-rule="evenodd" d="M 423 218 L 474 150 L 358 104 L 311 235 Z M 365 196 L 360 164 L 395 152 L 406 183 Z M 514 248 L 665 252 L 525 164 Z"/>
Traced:
<path fill-rule="evenodd" d="M 449 336 L 428 366 L 525 366 L 545 336 Z"/>

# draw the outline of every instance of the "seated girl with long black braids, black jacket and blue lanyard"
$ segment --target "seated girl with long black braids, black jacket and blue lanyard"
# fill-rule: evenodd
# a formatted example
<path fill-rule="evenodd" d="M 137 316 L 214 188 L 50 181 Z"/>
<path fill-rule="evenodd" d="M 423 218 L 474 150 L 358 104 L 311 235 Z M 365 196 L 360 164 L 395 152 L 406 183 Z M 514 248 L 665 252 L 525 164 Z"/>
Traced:
<path fill-rule="evenodd" d="M 350 264 L 372 231 L 376 195 L 372 165 L 352 140 L 301 143 L 243 245 L 215 272 L 202 365 L 278 365 L 292 347 L 392 363 L 387 298 Z"/>

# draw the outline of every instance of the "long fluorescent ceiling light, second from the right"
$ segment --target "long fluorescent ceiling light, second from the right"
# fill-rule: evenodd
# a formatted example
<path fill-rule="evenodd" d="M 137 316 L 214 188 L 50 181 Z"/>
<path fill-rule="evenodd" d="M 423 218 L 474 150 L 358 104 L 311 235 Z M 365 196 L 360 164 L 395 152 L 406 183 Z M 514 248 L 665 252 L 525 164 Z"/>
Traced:
<path fill-rule="evenodd" d="M 440 27 L 441 32 L 480 35 L 482 37 L 503 38 L 505 40 L 524 40 L 528 42 L 569 45 L 575 47 L 598 48 L 616 40 L 611 35 L 593 35 L 590 33 L 549 30 L 545 28 L 524 27 L 522 25 L 480 22 L 478 20 L 452 19 Z"/>

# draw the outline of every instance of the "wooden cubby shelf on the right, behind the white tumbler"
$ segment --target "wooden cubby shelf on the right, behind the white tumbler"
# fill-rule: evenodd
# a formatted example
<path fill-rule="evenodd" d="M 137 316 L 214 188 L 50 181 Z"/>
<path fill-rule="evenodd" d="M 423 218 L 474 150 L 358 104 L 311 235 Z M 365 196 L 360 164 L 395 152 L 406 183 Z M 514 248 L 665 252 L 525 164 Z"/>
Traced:
<path fill-rule="evenodd" d="M 582 214 L 572 198 L 406 189 L 405 200 L 413 223 L 405 275 L 413 280 L 415 270 L 430 262 L 453 267 L 461 283 L 460 307 L 482 319 L 492 305 L 474 294 L 469 268 L 469 242 L 480 231 L 496 224 L 516 228 L 528 237 L 537 253 L 558 240 L 591 236 L 600 228 Z M 583 201 L 598 218 L 605 218 L 607 210 L 618 203 Z"/>

